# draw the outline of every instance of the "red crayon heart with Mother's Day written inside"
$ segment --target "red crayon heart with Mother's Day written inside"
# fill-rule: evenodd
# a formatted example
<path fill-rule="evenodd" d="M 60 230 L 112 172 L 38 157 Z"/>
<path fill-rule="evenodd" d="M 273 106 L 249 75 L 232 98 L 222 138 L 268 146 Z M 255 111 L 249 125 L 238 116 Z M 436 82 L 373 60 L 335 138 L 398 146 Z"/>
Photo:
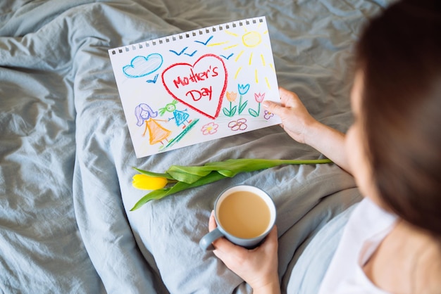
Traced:
<path fill-rule="evenodd" d="M 228 81 L 227 68 L 219 56 L 206 54 L 193 65 L 172 64 L 161 77 L 173 98 L 213 120 L 218 117 Z"/>

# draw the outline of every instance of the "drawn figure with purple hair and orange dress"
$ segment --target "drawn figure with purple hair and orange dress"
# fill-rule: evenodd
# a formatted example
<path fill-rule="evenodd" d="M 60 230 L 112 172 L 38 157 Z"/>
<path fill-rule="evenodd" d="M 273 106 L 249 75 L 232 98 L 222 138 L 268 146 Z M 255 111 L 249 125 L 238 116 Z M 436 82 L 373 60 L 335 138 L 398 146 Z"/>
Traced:
<path fill-rule="evenodd" d="M 164 140 L 168 142 L 168 136 L 170 136 L 170 130 L 164 128 L 158 122 L 168 122 L 167 120 L 154 120 L 153 117 L 158 116 L 157 111 L 153 111 L 150 106 L 145 103 L 139 104 L 135 108 L 135 116 L 137 118 L 137 126 L 141 127 L 145 122 L 145 129 L 142 136 L 145 136 L 147 129 L 149 130 L 149 142 L 150 145 L 161 143 L 164 145 Z"/>

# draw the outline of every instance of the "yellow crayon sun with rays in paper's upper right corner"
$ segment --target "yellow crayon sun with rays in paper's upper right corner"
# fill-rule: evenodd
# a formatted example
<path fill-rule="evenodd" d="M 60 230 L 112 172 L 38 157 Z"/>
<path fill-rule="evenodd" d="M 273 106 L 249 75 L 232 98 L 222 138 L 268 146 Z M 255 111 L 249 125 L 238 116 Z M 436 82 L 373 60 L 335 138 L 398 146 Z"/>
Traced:
<path fill-rule="evenodd" d="M 268 89 L 271 89 L 268 77 L 266 77 L 264 72 L 267 72 L 267 67 L 271 68 L 273 72 L 275 72 L 275 69 L 273 63 L 268 63 L 265 58 L 267 54 L 266 52 L 271 52 L 271 48 L 269 48 L 268 44 L 263 41 L 263 37 L 268 34 L 268 30 L 261 32 L 261 25 L 262 23 L 257 25 L 257 30 L 248 30 L 247 27 L 243 27 L 243 34 L 231 32 L 231 30 L 224 30 L 226 34 L 232 37 L 230 41 L 222 41 L 219 43 L 209 44 L 207 46 L 225 45 L 223 50 L 235 51 L 234 60 L 240 65 L 235 72 L 235 79 L 237 79 L 237 77 L 240 75 L 240 72 L 244 66 L 248 66 L 251 68 L 251 72 L 254 75 L 256 84 L 259 84 L 261 79 L 263 79 Z M 263 48 L 262 46 L 266 48 Z M 260 70 L 262 70 L 263 74 L 260 73 Z"/>

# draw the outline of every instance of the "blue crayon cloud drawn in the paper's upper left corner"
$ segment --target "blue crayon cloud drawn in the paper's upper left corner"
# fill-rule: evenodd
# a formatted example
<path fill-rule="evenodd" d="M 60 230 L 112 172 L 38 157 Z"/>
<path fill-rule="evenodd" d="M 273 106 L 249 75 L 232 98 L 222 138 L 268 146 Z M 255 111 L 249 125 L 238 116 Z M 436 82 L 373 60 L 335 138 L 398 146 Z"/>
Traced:
<path fill-rule="evenodd" d="M 128 77 L 144 77 L 161 68 L 163 58 L 159 53 L 151 53 L 147 57 L 136 56 L 129 65 L 123 67 L 124 75 Z"/>

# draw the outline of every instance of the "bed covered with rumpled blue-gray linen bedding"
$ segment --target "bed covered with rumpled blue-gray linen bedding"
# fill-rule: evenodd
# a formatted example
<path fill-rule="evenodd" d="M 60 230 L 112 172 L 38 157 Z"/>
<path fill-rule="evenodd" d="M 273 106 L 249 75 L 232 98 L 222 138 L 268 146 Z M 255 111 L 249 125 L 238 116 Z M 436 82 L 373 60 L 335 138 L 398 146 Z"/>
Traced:
<path fill-rule="evenodd" d="M 132 187 L 132 167 L 164 172 L 170 165 L 229 158 L 323 155 L 276 125 L 136 158 L 108 49 L 265 15 L 280 87 L 297 92 L 316 119 L 345 132 L 352 121 L 354 42 L 366 21 L 387 5 L 381 0 L 1 1 L 1 292 L 251 293 L 198 245 L 218 194 L 249 184 L 270 194 L 278 210 L 282 293 L 312 293 L 306 283 L 319 283 L 320 275 L 311 282 L 299 273 L 323 272 L 326 258 L 321 262 L 306 245 L 360 200 L 352 177 L 332 164 L 285 165 L 130 211 L 145 194 Z M 328 245 L 320 246 L 323 253 L 332 252 Z"/>

